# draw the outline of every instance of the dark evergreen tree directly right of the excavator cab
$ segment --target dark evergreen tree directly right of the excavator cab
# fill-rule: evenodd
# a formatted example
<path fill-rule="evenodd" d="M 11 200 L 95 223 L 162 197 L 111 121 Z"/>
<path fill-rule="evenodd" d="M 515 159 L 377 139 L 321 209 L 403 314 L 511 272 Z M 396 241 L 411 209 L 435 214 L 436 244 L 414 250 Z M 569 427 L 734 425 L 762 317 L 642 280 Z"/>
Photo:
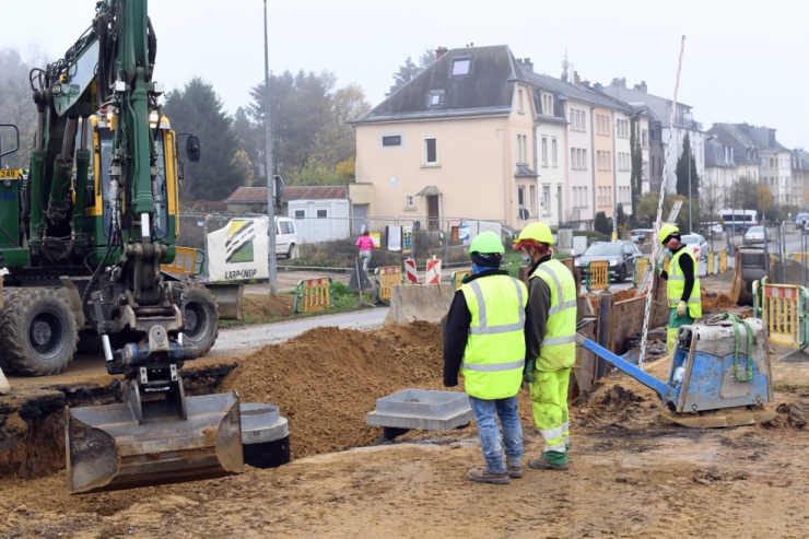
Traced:
<path fill-rule="evenodd" d="M 239 162 L 238 134 L 210 82 L 195 77 L 183 90 L 166 95 L 163 110 L 176 132 L 199 137 L 202 149 L 199 164 L 186 163 L 184 200 L 224 200 L 245 185 L 245 167 L 234 166 Z M 184 141 L 178 145 L 183 148 Z"/>

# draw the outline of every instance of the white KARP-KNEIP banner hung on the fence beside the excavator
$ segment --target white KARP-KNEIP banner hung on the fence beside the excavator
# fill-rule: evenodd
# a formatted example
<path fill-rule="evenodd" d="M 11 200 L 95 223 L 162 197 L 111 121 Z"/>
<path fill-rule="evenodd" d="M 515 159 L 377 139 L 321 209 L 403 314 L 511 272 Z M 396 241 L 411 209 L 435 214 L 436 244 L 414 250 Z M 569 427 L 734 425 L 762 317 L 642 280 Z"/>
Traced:
<path fill-rule="evenodd" d="M 266 219 L 232 219 L 207 238 L 208 278 L 212 282 L 268 279 Z"/>

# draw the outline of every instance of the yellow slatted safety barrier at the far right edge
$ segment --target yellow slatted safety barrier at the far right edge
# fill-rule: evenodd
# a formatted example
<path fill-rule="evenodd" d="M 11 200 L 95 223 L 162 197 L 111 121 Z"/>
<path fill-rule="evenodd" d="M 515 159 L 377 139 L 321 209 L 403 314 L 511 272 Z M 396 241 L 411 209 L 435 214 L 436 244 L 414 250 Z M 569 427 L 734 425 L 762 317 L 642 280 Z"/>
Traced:
<path fill-rule="evenodd" d="M 753 282 L 753 316 L 767 327 L 772 342 L 802 350 L 809 344 L 809 293 L 797 284 Z"/>

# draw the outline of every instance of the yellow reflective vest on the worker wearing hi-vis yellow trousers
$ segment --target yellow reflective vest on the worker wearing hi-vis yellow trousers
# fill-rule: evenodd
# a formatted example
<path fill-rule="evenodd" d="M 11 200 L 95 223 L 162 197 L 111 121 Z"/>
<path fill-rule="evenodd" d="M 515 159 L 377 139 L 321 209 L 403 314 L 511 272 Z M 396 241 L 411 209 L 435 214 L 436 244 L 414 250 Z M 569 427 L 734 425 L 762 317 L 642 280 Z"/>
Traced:
<path fill-rule="evenodd" d="M 537 370 L 570 368 L 576 362 L 576 282 L 571 270 L 552 259 L 537 266 L 531 279 L 542 279 L 551 289 L 551 307 Z"/>

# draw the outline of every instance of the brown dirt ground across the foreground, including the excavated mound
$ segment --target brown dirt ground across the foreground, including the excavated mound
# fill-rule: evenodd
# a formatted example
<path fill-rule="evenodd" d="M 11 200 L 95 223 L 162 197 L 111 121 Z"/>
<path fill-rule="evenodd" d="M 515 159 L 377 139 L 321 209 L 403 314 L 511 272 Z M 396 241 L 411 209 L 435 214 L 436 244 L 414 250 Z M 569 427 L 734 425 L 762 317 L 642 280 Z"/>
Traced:
<path fill-rule="evenodd" d="M 466 479 L 482 466 L 473 426 L 368 447 L 377 397 L 442 388 L 436 326 L 318 328 L 239 360 L 222 389 L 280 406 L 291 464 L 80 496 L 63 470 L 0 479 L 0 537 L 807 536 L 807 386 L 776 394 L 773 425 L 700 431 L 669 423 L 650 390 L 613 373 L 571 408 L 570 471 L 526 468 L 488 485 Z M 664 377 L 667 362 L 647 370 Z M 519 406 L 527 457 L 538 456 L 526 391 Z"/>

